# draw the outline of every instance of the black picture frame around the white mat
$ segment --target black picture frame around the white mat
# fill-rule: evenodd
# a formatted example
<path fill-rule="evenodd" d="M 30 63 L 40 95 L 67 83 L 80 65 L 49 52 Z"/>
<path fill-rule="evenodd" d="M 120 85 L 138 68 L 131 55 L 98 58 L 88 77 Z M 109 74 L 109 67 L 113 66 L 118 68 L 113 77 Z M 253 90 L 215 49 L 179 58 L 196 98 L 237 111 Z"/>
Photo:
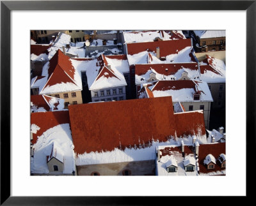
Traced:
<path fill-rule="evenodd" d="M 250 154 L 255 149 L 256 128 L 255 0 L 61 1 L 61 4 L 59 1 L 1 1 L 1 205 L 151 205 L 152 201 L 154 202 L 152 199 L 156 198 L 154 196 L 132 198 L 127 196 L 101 196 L 100 198 L 99 196 L 10 196 L 10 12 L 12 10 L 246 10 L 246 197 L 252 196 L 249 188 L 255 177 L 250 175 L 249 163 L 252 160 Z M 170 198 L 161 197 L 162 201 L 170 201 Z"/>

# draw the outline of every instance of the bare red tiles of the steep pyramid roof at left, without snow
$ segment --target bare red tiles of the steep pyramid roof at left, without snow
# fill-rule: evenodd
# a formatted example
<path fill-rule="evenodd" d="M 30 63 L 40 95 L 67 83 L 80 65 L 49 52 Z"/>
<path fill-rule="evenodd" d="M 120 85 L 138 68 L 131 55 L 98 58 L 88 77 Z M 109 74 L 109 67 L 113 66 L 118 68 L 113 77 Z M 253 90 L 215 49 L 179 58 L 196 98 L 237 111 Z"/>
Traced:
<path fill-rule="evenodd" d="M 71 82 L 74 82 L 75 69 L 70 61 L 70 57 L 64 55 L 59 49 L 49 61 L 48 81 L 44 87 Z M 43 89 L 44 90 L 44 89 Z"/>

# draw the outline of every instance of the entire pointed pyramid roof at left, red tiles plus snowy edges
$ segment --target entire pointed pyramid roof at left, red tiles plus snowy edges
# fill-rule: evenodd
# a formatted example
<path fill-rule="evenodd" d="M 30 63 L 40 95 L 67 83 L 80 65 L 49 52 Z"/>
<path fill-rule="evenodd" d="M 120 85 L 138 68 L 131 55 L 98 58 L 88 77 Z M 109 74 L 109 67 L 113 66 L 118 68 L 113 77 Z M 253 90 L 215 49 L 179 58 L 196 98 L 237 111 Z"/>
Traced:
<path fill-rule="evenodd" d="M 81 74 L 74 68 L 72 60 L 58 50 L 42 70 L 42 84 L 39 94 L 51 94 L 67 91 L 81 91 Z"/>

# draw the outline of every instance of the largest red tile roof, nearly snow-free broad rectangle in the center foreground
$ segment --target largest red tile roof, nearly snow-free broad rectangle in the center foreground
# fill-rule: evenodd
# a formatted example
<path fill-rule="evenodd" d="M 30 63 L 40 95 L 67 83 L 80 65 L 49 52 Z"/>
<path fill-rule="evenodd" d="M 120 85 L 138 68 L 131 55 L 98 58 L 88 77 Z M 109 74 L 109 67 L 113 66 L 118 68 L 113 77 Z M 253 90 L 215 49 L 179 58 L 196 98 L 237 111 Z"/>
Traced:
<path fill-rule="evenodd" d="M 175 133 L 172 98 L 69 105 L 77 154 L 166 142 Z"/>

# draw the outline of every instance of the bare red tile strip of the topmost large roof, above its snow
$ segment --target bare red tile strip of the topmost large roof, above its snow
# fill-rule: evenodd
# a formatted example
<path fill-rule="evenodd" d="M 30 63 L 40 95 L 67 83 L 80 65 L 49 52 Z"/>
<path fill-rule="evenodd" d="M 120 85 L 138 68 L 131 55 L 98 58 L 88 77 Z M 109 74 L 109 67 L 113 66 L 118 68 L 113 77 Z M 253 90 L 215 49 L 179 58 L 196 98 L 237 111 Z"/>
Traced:
<path fill-rule="evenodd" d="M 140 52 L 149 51 L 156 52 L 159 47 L 160 57 L 166 57 L 170 54 L 178 54 L 178 52 L 186 47 L 192 47 L 191 40 L 170 40 L 170 41 L 150 41 L 143 43 L 127 43 L 127 53 L 130 55 Z M 177 52 L 178 51 L 178 52 Z"/>

